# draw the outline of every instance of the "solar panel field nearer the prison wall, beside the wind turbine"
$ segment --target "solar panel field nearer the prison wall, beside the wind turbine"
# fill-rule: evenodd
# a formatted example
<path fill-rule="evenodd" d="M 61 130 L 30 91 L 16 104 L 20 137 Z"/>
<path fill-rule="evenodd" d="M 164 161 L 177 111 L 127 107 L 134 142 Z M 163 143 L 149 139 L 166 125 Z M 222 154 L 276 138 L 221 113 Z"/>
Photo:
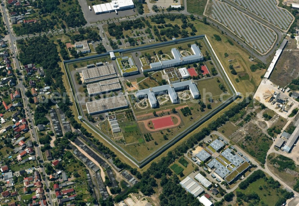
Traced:
<path fill-rule="evenodd" d="M 211 16 L 224 24 L 247 44 L 260 53 L 267 53 L 275 39 L 273 30 L 230 7 L 228 4 L 213 0 Z"/>

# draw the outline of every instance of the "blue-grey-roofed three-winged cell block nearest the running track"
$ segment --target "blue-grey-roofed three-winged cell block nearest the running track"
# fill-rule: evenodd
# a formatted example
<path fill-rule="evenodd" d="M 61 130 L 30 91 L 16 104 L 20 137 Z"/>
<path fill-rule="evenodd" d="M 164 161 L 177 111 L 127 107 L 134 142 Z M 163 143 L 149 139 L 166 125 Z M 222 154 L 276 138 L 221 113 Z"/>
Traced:
<path fill-rule="evenodd" d="M 193 82 L 193 80 L 184 81 L 184 82 L 177 82 L 173 84 L 166 84 L 158 87 L 150 87 L 148 89 L 143 89 L 135 92 L 135 96 L 140 98 L 148 98 L 149 103 L 151 104 L 151 107 L 157 107 L 157 99 L 156 95 L 159 95 L 161 93 L 167 93 L 169 95 L 170 101 L 175 104 L 179 102 L 178 95 L 176 94 L 176 91 L 180 90 L 186 90 L 189 88 L 190 93 L 193 97 L 193 99 L 197 99 L 199 97 L 199 91 Z"/>

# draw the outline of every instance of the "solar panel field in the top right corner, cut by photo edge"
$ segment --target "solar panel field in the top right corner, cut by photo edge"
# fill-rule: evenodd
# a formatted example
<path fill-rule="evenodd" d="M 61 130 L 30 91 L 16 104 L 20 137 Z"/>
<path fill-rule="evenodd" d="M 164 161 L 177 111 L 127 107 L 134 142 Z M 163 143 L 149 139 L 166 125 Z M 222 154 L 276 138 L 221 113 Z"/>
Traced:
<path fill-rule="evenodd" d="M 282 30 L 288 30 L 294 17 L 277 7 L 276 0 L 231 0 Z"/>

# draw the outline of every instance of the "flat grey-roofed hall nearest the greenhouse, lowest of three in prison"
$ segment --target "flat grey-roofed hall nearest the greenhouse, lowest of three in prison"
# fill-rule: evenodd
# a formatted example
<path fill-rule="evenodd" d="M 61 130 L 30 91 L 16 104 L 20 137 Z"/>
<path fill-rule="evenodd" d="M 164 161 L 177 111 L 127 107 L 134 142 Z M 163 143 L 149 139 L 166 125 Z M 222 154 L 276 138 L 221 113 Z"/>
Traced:
<path fill-rule="evenodd" d="M 89 115 L 108 112 L 125 107 L 128 107 L 128 103 L 124 95 L 86 102 L 86 109 Z"/>

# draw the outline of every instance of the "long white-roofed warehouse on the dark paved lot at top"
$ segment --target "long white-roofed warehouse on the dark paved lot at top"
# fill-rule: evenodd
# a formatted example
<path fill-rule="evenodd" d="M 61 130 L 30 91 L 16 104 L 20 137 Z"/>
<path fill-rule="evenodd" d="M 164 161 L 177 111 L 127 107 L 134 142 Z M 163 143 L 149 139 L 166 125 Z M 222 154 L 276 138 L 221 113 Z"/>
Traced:
<path fill-rule="evenodd" d="M 92 6 L 95 14 L 116 12 L 120 10 L 134 9 L 132 0 L 114 0 L 110 3 L 97 4 Z"/>

